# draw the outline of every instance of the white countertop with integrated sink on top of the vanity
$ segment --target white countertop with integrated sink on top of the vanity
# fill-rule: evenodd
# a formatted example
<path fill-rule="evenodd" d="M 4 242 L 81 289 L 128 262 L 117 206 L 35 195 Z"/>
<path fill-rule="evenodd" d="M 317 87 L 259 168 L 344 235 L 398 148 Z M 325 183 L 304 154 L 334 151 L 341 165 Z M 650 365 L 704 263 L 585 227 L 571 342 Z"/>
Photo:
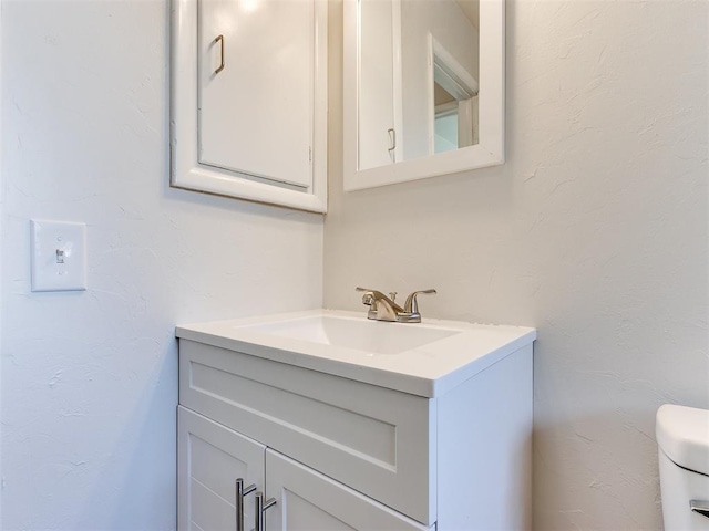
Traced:
<path fill-rule="evenodd" d="M 335 340 L 325 337 L 322 332 L 317 336 L 301 332 L 314 327 L 312 323 L 322 322 L 336 323 L 340 330 L 351 326 L 352 332 Z M 338 310 L 184 324 L 176 327 L 175 334 L 184 340 L 427 397 L 446 393 L 536 339 L 536 330 L 531 327 L 425 317 L 420 324 L 386 323 L 369 321 L 363 312 Z M 336 344 L 326 344 L 329 341 Z M 421 341 L 428 342 L 418 344 Z M 397 344 L 402 345 L 401 352 Z"/>

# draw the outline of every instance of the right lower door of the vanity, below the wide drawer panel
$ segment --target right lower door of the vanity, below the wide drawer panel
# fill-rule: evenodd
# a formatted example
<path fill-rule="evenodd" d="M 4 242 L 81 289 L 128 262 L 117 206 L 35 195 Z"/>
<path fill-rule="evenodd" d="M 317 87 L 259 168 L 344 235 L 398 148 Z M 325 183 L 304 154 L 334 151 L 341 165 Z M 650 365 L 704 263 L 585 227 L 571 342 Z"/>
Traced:
<path fill-rule="evenodd" d="M 266 510 L 267 531 L 429 529 L 270 449 L 266 450 L 266 492 L 276 499 Z"/>

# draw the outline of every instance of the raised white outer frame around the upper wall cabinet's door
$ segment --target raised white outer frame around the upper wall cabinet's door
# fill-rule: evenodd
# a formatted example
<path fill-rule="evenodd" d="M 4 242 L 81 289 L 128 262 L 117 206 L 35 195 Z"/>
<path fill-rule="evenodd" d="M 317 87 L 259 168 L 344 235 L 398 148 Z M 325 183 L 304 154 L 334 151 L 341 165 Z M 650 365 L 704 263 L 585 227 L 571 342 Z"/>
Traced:
<path fill-rule="evenodd" d="M 299 210 L 327 211 L 327 0 L 315 0 L 314 9 L 312 183 L 300 191 L 199 162 L 198 1 L 172 0 L 169 148 L 173 187 Z"/>

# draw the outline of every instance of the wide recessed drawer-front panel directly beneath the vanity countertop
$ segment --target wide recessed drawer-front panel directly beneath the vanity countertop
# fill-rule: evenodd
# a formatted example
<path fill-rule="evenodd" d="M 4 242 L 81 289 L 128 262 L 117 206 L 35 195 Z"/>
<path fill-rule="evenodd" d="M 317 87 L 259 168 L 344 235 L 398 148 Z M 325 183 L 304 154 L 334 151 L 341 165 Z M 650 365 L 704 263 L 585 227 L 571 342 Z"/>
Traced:
<path fill-rule="evenodd" d="M 179 340 L 179 403 L 424 524 L 435 399 Z"/>

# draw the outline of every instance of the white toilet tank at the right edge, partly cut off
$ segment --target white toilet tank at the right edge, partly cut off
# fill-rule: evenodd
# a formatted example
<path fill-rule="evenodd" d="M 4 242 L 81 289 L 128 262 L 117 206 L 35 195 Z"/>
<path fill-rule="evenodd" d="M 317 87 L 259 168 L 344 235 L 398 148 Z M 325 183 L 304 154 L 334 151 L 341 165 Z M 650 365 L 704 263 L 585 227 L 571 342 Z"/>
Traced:
<path fill-rule="evenodd" d="M 709 412 L 666 404 L 656 437 L 665 530 L 709 530 Z"/>

